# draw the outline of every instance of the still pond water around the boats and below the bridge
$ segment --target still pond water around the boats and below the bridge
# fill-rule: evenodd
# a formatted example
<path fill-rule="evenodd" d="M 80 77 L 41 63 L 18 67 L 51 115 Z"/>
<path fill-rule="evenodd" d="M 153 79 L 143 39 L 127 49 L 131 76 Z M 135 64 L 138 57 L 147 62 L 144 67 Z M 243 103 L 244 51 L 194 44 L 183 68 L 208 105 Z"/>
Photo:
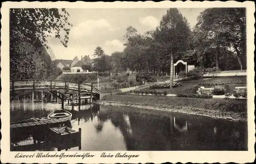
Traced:
<path fill-rule="evenodd" d="M 13 101 L 11 122 L 47 116 L 60 104 Z M 66 109 L 71 106 L 65 105 Z M 80 151 L 247 150 L 247 123 L 131 107 L 81 106 L 72 111 L 72 129 L 81 128 Z M 85 110 L 89 109 L 89 110 Z M 33 144 L 24 138 L 19 145 Z M 19 151 L 57 151 L 53 147 Z M 78 151 L 78 147 L 68 149 Z"/>

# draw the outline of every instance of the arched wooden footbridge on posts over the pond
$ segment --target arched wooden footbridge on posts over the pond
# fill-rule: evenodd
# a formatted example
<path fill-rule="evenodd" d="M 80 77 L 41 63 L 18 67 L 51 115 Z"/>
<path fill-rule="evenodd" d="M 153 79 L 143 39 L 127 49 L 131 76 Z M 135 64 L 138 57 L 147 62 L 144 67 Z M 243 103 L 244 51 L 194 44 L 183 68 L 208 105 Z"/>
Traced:
<path fill-rule="evenodd" d="M 91 103 L 93 100 L 100 99 L 100 92 L 93 87 L 93 84 L 88 85 L 61 80 L 36 79 L 10 81 L 10 101 L 27 92 L 32 92 L 32 101 L 34 101 L 35 92 L 41 92 L 42 97 L 44 95 L 43 93 L 50 92 L 61 100 L 62 109 L 64 108 L 63 102 L 65 99 L 69 99 L 72 103 L 74 103 L 74 100 L 79 99 L 79 104 L 81 104 L 80 98 L 83 96 L 90 96 Z"/>

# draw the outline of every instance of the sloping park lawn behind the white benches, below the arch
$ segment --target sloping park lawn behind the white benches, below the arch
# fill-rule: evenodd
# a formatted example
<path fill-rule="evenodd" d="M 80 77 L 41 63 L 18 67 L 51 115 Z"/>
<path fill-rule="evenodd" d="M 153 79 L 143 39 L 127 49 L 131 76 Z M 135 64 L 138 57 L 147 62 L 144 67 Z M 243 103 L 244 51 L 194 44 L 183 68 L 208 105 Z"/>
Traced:
<path fill-rule="evenodd" d="M 198 88 L 202 86 L 214 87 L 213 85 L 204 85 L 204 84 L 227 84 L 229 87 L 229 92 L 232 92 L 234 87 L 236 86 L 246 86 L 246 76 L 236 76 L 236 77 L 214 77 L 214 78 L 203 78 L 200 80 L 181 80 L 182 86 L 175 87 L 175 88 L 163 88 L 163 89 L 150 89 L 145 88 L 143 90 L 157 90 L 157 91 L 164 91 L 166 90 L 168 94 L 177 94 L 177 93 L 196 93 Z M 237 84 L 241 83 L 241 84 Z"/>

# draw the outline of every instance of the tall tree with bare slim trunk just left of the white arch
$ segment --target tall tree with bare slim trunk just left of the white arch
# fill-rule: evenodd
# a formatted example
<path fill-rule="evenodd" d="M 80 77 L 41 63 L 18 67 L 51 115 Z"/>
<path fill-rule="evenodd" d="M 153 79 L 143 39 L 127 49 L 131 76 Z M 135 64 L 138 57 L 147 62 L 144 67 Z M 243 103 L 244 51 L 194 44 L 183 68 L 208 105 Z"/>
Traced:
<path fill-rule="evenodd" d="M 170 62 L 170 88 L 173 87 L 174 57 L 188 49 L 191 30 L 185 17 L 177 8 L 170 8 L 163 15 L 160 26 L 155 31 L 155 40 L 161 44 L 162 59 Z"/>

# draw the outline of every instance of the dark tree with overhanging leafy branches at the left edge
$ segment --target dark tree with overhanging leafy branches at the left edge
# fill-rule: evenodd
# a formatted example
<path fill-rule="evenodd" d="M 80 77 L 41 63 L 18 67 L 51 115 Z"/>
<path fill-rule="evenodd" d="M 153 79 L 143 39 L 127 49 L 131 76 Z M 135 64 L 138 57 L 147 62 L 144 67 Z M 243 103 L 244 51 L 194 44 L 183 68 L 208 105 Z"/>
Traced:
<path fill-rule="evenodd" d="M 31 78 L 47 38 L 55 32 L 63 46 L 68 46 L 69 13 L 66 9 L 10 9 L 10 76 Z M 60 34 L 63 33 L 63 37 Z"/>

